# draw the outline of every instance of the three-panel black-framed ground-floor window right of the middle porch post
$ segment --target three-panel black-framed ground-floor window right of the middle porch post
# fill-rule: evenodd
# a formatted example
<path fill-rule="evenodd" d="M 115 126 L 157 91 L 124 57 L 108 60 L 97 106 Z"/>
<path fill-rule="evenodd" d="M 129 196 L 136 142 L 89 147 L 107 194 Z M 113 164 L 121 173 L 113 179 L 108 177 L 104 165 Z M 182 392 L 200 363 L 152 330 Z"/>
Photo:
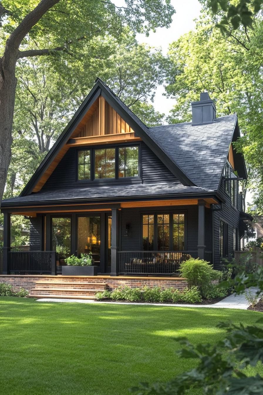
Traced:
<path fill-rule="evenodd" d="M 142 249 L 183 251 L 185 229 L 185 213 L 142 214 Z"/>

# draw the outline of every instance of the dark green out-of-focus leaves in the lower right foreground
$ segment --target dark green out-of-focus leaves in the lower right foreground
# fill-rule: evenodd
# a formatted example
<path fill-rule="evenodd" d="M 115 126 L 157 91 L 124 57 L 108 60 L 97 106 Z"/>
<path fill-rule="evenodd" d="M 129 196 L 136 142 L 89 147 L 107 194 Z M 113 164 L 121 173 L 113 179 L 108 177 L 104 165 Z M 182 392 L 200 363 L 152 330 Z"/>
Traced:
<path fill-rule="evenodd" d="M 246 287 L 258 287 L 263 291 L 263 268 L 255 273 L 247 274 L 242 271 L 234 280 L 221 283 L 224 286 L 235 286 L 237 293 L 245 292 Z M 175 395 L 189 394 L 195 389 L 209 395 L 257 395 L 263 393 L 262 374 L 254 373 L 248 376 L 247 367 L 259 367 L 263 363 L 263 318 L 259 325 L 234 325 L 220 323 L 219 328 L 226 330 L 223 340 L 211 344 L 193 346 L 186 338 L 178 338 L 185 346 L 178 352 L 181 358 L 196 359 L 196 367 L 184 372 L 165 384 L 140 383 L 132 392 L 140 395 Z"/>

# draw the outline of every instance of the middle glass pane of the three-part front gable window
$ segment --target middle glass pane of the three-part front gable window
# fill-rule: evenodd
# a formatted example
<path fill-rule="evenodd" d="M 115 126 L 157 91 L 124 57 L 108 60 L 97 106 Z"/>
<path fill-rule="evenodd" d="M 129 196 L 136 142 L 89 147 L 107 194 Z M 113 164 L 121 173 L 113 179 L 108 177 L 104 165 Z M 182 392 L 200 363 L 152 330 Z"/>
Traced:
<path fill-rule="evenodd" d="M 115 148 L 95 149 L 95 179 L 115 178 Z"/>

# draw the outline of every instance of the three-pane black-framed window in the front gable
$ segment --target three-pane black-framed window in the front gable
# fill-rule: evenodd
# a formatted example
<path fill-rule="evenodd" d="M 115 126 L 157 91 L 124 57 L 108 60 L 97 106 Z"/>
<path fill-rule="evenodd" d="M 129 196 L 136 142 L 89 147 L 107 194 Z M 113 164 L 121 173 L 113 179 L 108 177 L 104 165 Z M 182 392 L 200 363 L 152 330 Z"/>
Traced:
<path fill-rule="evenodd" d="M 139 145 L 78 150 L 78 181 L 139 177 Z"/>

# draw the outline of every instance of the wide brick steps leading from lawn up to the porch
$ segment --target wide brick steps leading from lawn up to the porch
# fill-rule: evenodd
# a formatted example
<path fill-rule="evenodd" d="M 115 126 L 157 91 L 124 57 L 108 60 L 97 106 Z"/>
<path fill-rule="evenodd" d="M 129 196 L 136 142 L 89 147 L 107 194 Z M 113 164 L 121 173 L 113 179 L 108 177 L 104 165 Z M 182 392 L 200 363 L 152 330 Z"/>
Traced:
<path fill-rule="evenodd" d="M 96 292 L 103 292 L 107 288 L 106 282 L 40 280 L 36 282 L 28 297 L 95 299 Z"/>

